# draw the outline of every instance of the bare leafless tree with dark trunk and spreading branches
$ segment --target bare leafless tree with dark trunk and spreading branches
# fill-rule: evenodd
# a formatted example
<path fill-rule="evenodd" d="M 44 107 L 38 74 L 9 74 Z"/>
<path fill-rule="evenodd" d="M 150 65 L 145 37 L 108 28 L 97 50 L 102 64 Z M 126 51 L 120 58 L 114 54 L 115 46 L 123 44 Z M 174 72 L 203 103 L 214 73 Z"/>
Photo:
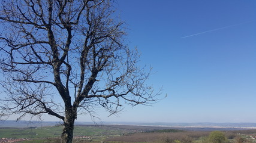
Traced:
<path fill-rule="evenodd" d="M 0 24 L 1 117 L 58 117 L 62 142 L 72 142 L 77 114 L 98 105 L 114 114 L 159 95 L 125 44 L 113 1 L 1 1 Z"/>

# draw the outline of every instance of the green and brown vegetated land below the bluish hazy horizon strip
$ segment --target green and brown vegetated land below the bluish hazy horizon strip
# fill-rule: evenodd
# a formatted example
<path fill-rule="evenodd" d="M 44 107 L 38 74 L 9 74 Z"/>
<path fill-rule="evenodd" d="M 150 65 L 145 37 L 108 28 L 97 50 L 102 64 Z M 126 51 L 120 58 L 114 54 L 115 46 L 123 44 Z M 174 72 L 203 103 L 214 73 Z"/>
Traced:
<path fill-rule="evenodd" d="M 41 128 L 2 128 L 0 142 L 61 142 L 61 126 Z M 74 141 L 79 142 L 154 142 L 154 143 L 254 143 L 256 130 L 192 131 L 143 126 L 76 126 Z M 12 140 L 11 140 L 12 139 Z M 16 140 L 14 140 L 16 139 Z"/>

